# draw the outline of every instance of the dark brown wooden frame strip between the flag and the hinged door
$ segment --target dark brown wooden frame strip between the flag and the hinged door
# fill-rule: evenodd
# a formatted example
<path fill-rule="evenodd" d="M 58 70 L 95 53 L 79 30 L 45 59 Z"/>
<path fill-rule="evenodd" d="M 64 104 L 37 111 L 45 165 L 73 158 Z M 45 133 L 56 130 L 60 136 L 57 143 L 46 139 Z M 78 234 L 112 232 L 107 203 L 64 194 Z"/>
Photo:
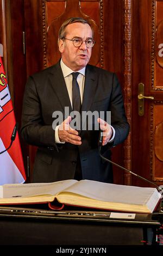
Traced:
<path fill-rule="evenodd" d="M 23 0 L 10 0 L 8 1 L 8 20 L 10 22 L 10 33 L 8 35 L 8 45 L 10 52 L 10 65 L 12 70 L 12 86 L 14 90 L 14 112 L 16 121 L 19 124 L 19 130 L 21 127 L 21 113 L 22 113 L 22 101 L 24 94 L 24 87 L 27 80 L 26 74 L 26 55 L 23 54 L 23 36 L 24 31 L 24 4 Z M 10 4 L 10 5 L 9 5 Z M 28 146 L 22 141 L 21 136 L 20 143 L 22 148 L 24 167 L 27 173 L 27 156 Z M 27 179 L 29 181 L 29 179 Z"/>

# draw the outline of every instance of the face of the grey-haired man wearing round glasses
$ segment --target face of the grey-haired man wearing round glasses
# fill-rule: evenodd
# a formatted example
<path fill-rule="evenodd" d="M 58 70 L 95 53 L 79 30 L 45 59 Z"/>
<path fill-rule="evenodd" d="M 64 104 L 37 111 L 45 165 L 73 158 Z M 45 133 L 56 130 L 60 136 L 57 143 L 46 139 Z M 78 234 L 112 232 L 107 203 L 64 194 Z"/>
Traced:
<path fill-rule="evenodd" d="M 92 29 L 88 24 L 80 22 L 72 23 L 65 29 L 65 38 L 73 40 L 81 38 L 83 41 L 92 38 Z M 61 52 L 62 60 L 68 68 L 73 71 L 78 71 L 89 62 L 92 48 L 87 48 L 85 42 L 80 47 L 75 47 L 70 40 L 59 41 L 59 51 Z"/>

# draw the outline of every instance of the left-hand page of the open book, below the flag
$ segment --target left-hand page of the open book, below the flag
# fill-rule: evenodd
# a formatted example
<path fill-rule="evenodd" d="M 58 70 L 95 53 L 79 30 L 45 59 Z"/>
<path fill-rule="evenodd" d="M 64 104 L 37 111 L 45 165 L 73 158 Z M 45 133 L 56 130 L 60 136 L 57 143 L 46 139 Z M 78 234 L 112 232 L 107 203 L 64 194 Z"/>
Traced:
<path fill-rule="evenodd" d="M 55 196 L 65 188 L 68 188 L 78 182 L 77 180 L 62 180 L 51 183 L 29 183 L 29 184 L 6 184 L 3 188 L 0 198 L 16 197 L 34 197 L 42 195 Z"/>

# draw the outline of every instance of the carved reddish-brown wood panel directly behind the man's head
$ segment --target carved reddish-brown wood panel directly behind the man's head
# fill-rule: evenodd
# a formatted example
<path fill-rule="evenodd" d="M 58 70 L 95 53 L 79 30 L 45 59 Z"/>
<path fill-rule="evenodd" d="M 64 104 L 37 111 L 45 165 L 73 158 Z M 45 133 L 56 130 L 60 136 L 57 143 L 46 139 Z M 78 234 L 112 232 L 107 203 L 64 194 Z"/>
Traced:
<path fill-rule="evenodd" d="M 99 18 L 99 1 L 80 2 L 67 0 L 65 4 L 60 1 L 42 0 L 42 15 L 43 15 L 43 62 L 46 66 L 51 66 L 60 58 L 58 50 L 58 32 L 61 24 L 73 17 L 83 17 L 89 20 L 93 27 L 95 46 L 92 49 L 90 64 L 99 66 L 100 59 L 100 18 Z M 56 11 L 57 10 L 57 11 Z M 95 54 L 96 53 L 96 54 Z"/>

